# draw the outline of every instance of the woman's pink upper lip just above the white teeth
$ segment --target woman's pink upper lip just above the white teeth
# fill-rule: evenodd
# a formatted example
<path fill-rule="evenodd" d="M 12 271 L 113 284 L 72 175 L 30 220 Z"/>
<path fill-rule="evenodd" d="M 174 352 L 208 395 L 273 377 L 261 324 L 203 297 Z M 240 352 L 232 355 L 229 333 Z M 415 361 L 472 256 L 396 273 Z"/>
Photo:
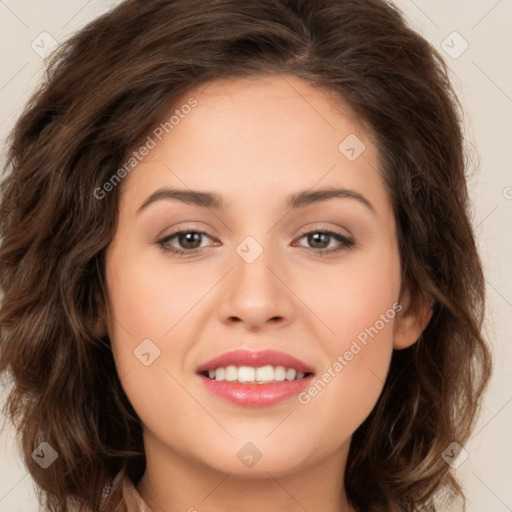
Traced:
<path fill-rule="evenodd" d="M 221 354 L 206 363 L 201 364 L 197 368 L 197 373 L 203 373 L 216 368 L 225 368 L 229 365 L 235 366 L 284 366 L 285 368 L 293 368 L 297 372 L 314 373 L 313 368 L 303 361 L 277 350 L 233 350 Z"/>

